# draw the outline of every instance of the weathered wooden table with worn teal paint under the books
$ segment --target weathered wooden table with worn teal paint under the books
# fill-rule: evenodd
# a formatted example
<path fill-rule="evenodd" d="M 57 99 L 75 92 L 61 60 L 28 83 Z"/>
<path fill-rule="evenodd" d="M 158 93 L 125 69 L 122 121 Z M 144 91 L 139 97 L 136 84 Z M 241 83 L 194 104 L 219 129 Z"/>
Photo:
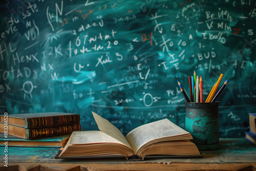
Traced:
<path fill-rule="evenodd" d="M 256 147 L 245 139 L 220 139 L 218 151 L 202 151 L 204 158 L 155 159 L 54 159 L 59 148 L 8 147 L 8 167 L 4 147 L 0 147 L 0 170 L 256 170 Z"/>

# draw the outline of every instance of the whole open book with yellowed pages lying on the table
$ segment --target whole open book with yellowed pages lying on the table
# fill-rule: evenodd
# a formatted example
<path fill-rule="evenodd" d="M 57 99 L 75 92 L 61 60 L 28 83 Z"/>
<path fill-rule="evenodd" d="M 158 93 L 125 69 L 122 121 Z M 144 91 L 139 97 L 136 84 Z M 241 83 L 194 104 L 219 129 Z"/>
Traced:
<path fill-rule="evenodd" d="M 93 116 L 100 131 L 74 131 L 56 158 L 201 156 L 190 133 L 168 119 L 141 125 L 124 137 L 108 120 Z"/>

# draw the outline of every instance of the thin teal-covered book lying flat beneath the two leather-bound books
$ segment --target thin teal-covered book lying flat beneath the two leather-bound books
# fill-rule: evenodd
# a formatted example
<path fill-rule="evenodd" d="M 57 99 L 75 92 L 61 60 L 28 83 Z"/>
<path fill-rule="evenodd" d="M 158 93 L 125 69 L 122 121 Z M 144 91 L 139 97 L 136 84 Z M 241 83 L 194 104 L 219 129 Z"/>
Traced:
<path fill-rule="evenodd" d="M 22 147 L 62 147 L 67 143 L 70 134 L 60 135 L 47 138 L 38 138 L 33 140 L 26 140 L 23 138 L 17 138 L 12 135 L 8 135 L 6 138 L 4 134 L 0 134 L 0 146 L 5 146 L 6 142 L 8 146 L 22 146 Z"/>

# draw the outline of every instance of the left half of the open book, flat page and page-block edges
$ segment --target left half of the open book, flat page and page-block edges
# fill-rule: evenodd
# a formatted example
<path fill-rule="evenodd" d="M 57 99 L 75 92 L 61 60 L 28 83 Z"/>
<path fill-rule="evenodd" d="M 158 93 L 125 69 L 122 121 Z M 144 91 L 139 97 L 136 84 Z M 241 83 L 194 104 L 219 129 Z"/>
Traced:
<path fill-rule="evenodd" d="M 102 131 L 74 131 L 59 156 L 131 156 L 133 149 Z"/>

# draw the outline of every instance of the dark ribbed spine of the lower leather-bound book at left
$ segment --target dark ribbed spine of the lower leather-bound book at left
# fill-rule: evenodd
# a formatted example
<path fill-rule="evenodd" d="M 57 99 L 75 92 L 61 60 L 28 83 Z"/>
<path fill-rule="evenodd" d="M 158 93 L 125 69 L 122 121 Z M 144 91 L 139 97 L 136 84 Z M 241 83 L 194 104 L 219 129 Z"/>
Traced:
<path fill-rule="evenodd" d="M 62 125 L 62 126 L 52 126 L 52 127 L 42 127 L 38 129 L 26 129 L 27 137 L 26 139 L 44 138 L 57 135 L 71 134 L 73 131 L 80 131 L 81 125 Z"/>

